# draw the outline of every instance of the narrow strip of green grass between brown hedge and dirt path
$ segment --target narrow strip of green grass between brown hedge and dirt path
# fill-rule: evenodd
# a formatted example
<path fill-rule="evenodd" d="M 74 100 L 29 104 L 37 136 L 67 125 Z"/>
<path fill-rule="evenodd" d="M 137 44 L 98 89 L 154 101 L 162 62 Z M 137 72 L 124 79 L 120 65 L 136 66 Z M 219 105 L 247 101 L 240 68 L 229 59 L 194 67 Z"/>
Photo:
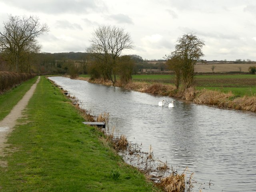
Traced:
<path fill-rule="evenodd" d="M 23 82 L 19 86 L 12 88 L 0 95 L 0 120 L 6 117 L 12 108 L 19 102 L 19 100 L 26 94 L 30 87 L 36 82 L 38 77 L 32 78 Z"/>

